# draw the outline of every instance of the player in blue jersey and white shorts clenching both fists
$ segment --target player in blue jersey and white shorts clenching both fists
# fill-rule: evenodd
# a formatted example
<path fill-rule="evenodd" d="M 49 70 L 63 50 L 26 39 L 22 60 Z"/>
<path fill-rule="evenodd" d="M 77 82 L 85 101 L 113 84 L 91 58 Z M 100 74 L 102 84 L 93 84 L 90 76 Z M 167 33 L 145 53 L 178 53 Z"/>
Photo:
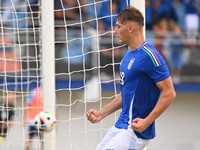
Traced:
<path fill-rule="evenodd" d="M 121 93 L 100 111 L 87 112 L 92 123 L 122 108 L 118 121 L 97 150 L 141 150 L 155 137 L 155 120 L 175 98 L 172 80 L 161 54 L 143 35 L 144 17 L 135 7 L 117 16 L 115 33 L 129 46 L 121 61 Z M 160 94 L 161 92 L 161 94 Z"/>

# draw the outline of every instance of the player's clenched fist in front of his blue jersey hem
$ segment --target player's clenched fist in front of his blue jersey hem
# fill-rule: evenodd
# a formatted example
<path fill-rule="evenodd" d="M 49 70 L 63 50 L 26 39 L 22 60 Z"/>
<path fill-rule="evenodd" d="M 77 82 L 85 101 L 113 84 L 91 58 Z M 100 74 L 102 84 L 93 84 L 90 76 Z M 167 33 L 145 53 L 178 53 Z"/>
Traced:
<path fill-rule="evenodd" d="M 146 128 L 148 127 L 148 123 L 145 119 L 141 119 L 141 118 L 135 118 L 132 123 L 131 123 L 131 128 L 138 132 L 141 133 L 144 130 L 146 130 Z"/>

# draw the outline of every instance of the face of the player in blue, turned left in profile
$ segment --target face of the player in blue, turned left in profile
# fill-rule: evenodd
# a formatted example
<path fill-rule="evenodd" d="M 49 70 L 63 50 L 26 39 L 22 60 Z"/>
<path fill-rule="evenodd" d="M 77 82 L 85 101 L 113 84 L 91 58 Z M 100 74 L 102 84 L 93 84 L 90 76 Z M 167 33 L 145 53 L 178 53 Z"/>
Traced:
<path fill-rule="evenodd" d="M 122 24 L 119 21 L 117 21 L 114 32 L 117 35 L 117 38 L 119 38 L 121 43 L 127 44 L 127 40 L 129 39 L 128 38 L 129 33 L 126 24 Z"/>

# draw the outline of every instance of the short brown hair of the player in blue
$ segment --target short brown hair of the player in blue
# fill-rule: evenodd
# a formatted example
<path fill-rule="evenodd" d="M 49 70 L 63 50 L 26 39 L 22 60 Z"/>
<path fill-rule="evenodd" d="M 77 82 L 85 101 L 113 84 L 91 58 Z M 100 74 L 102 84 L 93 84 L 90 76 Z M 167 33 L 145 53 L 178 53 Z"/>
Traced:
<path fill-rule="evenodd" d="M 134 21 L 144 26 L 144 16 L 141 11 L 133 6 L 126 6 L 117 16 L 117 21 L 125 24 L 126 21 Z"/>

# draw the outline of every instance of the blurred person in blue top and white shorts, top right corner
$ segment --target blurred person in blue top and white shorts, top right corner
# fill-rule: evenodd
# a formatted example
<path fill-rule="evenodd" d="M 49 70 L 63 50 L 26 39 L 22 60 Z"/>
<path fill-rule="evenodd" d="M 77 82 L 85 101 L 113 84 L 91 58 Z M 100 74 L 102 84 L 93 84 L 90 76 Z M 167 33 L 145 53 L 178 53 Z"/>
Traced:
<path fill-rule="evenodd" d="M 199 16 L 197 13 L 195 0 L 185 0 L 186 15 L 185 25 L 188 46 L 196 46 L 199 31 Z"/>

